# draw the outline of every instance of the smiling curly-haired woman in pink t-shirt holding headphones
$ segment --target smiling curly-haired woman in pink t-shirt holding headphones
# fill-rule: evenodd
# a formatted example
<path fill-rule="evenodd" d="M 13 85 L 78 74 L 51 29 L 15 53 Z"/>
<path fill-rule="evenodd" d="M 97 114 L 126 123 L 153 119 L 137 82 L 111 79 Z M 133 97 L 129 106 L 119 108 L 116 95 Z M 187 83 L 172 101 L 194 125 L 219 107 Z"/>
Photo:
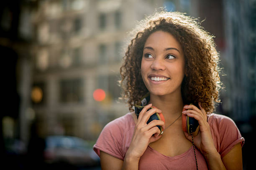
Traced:
<path fill-rule="evenodd" d="M 192 18 L 164 11 L 133 32 L 120 68 L 131 112 L 102 130 L 94 146 L 102 170 L 242 169 L 244 139 L 233 120 L 212 113 L 220 90 L 213 37 Z M 137 117 L 133 106 L 145 94 Z M 147 123 L 154 113 L 165 121 Z M 199 133 L 184 132 L 181 115 L 194 117 Z"/>

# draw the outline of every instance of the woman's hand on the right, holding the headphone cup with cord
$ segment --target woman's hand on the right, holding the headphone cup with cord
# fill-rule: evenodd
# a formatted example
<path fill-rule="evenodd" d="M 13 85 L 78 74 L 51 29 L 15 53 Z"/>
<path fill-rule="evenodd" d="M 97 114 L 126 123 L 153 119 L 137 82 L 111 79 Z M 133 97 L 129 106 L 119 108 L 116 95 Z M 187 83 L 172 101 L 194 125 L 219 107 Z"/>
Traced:
<path fill-rule="evenodd" d="M 194 136 L 194 144 L 201 151 L 204 156 L 208 156 L 212 153 L 216 153 L 214 142 L 212 140 L 212 135 L 210 131 L 210 125 L 207 122 L 207 115 L 205 109 L 202 108 L 200 102 L 198 102 L 200 107 L 197 108 L 195 105 L 185 105 L 184 108 L 187 109 L 182 112 L 189 117 L 194 117 L 200 127 L 198 135 Z M 192 136 L 187 132 L 184 132 L 186 138 L 192 142 Z"/>

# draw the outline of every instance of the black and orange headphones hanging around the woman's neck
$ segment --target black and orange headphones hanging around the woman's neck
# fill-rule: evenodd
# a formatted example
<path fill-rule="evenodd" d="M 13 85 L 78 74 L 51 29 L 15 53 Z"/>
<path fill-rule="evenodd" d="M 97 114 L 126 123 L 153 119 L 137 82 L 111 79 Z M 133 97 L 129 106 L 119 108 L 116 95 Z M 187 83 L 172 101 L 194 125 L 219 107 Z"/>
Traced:
<path fill-rule="evenodd" d="M 149 100 L 150 100 L 150 95 L 148 92 L 146 95 L 144 95 L 142 97 L 141 105 L 135 105 L 135 114 L 137 115 L 137 118 L 139 116 L 139 113 L 143 109 L 143 107 L 145 107 L 148 104 Z M 190 105 L 192 105 L 192 103 L 190 103 Z M 197 104 L 193 104 L 193 105 L 198 107 Z M 153 108 L 156 108 L 156 107 L 152 106 L 148 110 L 153 109 Z M 184 111 L 184 110 L 186 110 L 186 109 L 183 108 L 182 111 Z M 162 113 L 154 113 L 153 115 L 151 115 L 147 121 L 147 124 L 149 122 L 151 122 L 152 120 L 163 120 L 165 123 L 164 115 Z M 162 134 L 164 131 L 164 128 L 159 125 L 157 125 L 157 127 L 159 128 L 159 130 Z M 187 132 L 189 135 L 191 135 L 193 133 L 193 135 L 196 136 L 199 132 L 199 123 L 194 117 L 188 117 L 187 115 L 182 114 L 182 130 L 184 132 Z"/>

